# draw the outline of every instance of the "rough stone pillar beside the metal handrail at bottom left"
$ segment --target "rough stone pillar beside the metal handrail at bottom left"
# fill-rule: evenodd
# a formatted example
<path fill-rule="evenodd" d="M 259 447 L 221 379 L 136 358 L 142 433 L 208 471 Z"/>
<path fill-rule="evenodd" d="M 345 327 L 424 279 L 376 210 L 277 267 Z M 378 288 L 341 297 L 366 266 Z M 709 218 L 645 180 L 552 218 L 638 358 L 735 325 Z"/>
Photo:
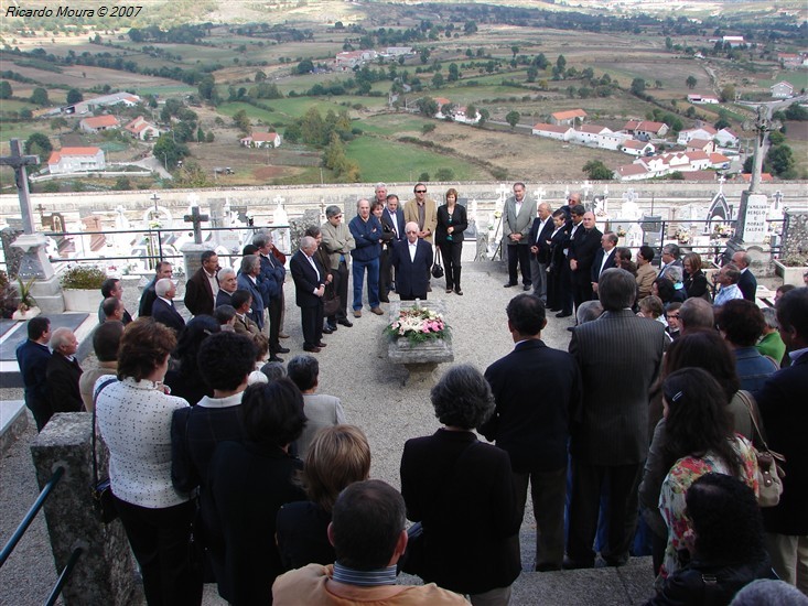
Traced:
<path fill-rule="evenodd" d="M 87 412 L 55 414 L 31 444 L 40 488 L 58 466 L 65 468 L 43 508 L 57 572 L 76 547 L 84 548 L 62 597 L 65 604 L 142 603 L 123 526 L 120 520 L 103 524 L 93 507 L 91 425 Z M 103 443 L 98 456 L 105 477 L 109 456 Z"/>

